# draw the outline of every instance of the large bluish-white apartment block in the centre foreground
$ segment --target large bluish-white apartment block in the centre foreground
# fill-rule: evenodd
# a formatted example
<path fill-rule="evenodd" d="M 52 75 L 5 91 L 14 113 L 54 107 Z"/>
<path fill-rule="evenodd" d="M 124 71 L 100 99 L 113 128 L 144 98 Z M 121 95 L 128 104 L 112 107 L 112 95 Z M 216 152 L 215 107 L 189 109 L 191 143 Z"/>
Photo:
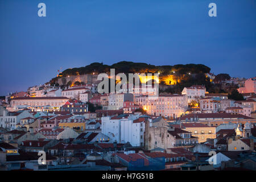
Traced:
<path fill-rule="evenodd" d="M 132 146 L 144 145 L 145 123 L 144 118 L 139 118 L 139 115 L 102 117 L 101 123 L 102 134 L 113 141 L 129 142 Z"/>

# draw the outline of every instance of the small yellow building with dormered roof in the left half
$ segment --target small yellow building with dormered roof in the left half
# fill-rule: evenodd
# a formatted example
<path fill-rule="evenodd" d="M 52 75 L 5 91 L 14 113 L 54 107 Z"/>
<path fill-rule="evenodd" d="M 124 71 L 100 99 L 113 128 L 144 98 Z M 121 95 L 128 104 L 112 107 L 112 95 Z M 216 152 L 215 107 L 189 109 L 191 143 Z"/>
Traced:
<path fill-rule="evenodd" d="M 82 132 L 85 130 L 85 126 L 86 126 L 86 123 L 84 121 L 84 119 L 68 119 L 68 121 L 60 121 L 59 122 L 59 127 L 61 129 L 64 129 L 64 128 L 71 128 L 77 132 Z"/>

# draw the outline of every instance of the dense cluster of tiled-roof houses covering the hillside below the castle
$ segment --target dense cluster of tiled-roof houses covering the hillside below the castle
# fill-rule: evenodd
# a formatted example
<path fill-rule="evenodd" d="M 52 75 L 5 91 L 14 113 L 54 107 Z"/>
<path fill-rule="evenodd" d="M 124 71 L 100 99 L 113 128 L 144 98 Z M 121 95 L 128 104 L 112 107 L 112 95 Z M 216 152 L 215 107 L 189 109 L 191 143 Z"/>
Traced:
<path fill-rule="evenodd" d="M 99 94 L 86 84 L 9 94 L 0 105 L 0 169 L 256 169 L 255 93 L 233 101 L 201 85 L 133 92 Z"/>

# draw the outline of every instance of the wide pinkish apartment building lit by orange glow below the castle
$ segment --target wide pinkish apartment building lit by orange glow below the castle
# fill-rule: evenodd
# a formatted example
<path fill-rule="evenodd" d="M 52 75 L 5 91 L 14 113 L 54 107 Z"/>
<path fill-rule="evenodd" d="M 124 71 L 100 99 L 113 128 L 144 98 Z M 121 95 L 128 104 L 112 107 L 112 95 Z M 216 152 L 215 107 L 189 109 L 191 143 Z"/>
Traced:
<path fill-rule="evenodd" d="M 135 98 L 135 104 L 142 105 L 147 114 L 167 118 L 180 117 L 188 109 L 187 96 L 180 94 L 159 97 L 138 96 Z"/>

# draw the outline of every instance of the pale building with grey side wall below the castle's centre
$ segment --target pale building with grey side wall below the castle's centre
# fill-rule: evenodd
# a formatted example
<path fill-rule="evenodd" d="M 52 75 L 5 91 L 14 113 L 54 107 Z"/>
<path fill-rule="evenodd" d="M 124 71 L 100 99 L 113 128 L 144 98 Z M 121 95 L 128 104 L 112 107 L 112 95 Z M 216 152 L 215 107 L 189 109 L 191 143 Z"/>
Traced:
<path fill-rule="evenodd" d="M 123 108 L 123 102 L 134 101 L 131 93 L 110 93 L 109 94 L 109 110 L 119 110 Z"/>

